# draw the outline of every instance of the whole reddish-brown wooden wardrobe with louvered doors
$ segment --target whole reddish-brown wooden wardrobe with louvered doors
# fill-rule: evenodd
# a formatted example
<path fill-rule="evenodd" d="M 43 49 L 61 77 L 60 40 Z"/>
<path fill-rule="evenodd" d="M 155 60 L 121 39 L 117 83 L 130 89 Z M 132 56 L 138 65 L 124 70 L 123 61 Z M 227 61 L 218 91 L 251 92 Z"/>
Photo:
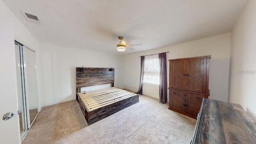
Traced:
<path fill-rule="evenodd" d="M 211 56 L 169 60 L 169 107 L 192 118 L 197 118 L 208 90 Z"/>

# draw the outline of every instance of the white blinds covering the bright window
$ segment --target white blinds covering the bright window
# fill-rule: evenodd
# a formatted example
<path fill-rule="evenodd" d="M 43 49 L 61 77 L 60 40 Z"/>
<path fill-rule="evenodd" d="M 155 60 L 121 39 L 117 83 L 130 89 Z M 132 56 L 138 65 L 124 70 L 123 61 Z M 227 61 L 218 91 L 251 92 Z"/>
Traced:
<path fill-rule="evenodd" d="M 144 60 L 143 83 L 159 85 L 160 66 L 158 58 Z"/>

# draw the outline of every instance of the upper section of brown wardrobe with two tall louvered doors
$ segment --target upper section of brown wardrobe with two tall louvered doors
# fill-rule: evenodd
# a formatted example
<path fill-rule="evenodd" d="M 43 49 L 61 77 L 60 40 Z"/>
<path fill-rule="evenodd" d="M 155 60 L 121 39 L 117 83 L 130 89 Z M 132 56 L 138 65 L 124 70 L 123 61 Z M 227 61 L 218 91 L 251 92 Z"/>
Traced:
<path fill-rule="evenodd" d="M 210 56 L 169 60 L 169 86 L 180 90 L 209 93 L 209 64 Z"/>

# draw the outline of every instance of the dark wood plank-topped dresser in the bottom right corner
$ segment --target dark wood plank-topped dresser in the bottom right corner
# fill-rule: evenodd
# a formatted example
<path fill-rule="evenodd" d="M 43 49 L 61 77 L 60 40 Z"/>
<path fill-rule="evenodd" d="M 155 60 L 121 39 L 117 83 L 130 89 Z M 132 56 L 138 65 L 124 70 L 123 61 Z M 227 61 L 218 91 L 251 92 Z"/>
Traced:
<path fill-rule="evenodd" d="M 256 122 L 240 104 L 204 98 L 191 144 L 256 144 Z"/>

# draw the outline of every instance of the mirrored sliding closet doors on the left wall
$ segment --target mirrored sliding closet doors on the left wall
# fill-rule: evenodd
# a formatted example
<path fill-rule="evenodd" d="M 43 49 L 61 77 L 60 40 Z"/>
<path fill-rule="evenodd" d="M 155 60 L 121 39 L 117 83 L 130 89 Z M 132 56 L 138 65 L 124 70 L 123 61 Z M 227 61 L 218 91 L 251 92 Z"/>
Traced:
<path fill-rule="evenodd" d="M 35 52 L 15 41 L 18 113 L 21 140 L 38 114 L 38 89 Z"/>

